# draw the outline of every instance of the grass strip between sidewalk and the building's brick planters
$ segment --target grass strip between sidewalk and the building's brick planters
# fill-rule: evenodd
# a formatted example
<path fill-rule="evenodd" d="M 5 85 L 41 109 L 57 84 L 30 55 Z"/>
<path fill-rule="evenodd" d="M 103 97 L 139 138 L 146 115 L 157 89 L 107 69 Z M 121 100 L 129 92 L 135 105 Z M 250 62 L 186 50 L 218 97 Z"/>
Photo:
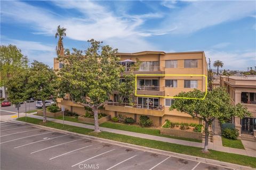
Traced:
<path fill-rule="evenodd" d="M 128 125 L 128 124 L 118 124 L 118 123 L 104 122 L 104 123 L 101 123 L 100 126 L 101 127 L 105 127 L 105 128 L 123 130 L 123 131 L 130 131 L 130 132 L 137 132 L 137 133 L 156 135 L 156 136 L 159 136 L 159 137 L 187 140 L 187 141 L 200 142 L 200 143 L 202 142 L 202 140 L 198 140 L 198 139 L 173 137 L 171 135 L 160 134 L 160 130 L 159 129 L 142 128 L 140 126 L 134 126 L 134 125 Z"/>

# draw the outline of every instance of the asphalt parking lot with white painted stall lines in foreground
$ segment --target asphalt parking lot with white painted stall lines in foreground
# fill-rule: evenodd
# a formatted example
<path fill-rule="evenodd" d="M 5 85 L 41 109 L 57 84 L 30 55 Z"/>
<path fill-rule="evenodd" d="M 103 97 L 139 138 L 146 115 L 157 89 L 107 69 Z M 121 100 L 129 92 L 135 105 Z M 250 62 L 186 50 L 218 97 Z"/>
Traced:
<path fill-rule="evenodd" d="M 1 169 L 228 169 L 30 125 L 0 127 Z"/>

